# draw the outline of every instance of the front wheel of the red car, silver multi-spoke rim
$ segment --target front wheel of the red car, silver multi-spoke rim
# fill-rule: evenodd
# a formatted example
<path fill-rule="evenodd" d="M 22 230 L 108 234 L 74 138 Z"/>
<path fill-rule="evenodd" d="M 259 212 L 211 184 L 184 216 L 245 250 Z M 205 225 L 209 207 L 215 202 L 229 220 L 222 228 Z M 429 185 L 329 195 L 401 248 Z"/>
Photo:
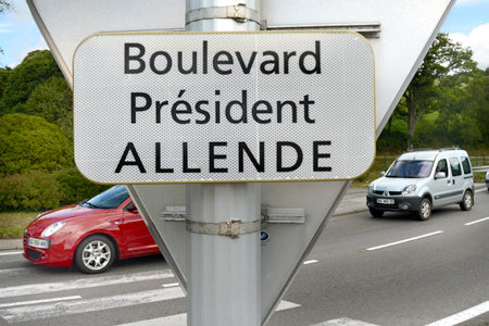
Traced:
<path fill-rule="evenodd" d="M 109 238 L 95 235 L 83 240 L 75 252 L 75 264 L 84 273 L 103 273 L 115 260 L 115 247 Z"/>

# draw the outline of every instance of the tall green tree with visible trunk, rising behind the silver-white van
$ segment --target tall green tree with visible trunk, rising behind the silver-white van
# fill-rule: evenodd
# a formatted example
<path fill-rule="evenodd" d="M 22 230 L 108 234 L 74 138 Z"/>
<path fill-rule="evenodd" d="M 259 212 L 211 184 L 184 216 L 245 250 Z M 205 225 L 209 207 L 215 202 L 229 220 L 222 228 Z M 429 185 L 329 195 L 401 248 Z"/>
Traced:
<path fill-rule="evenodd" d="M 396 114 L 408 124 L 408 150 L 413 149 L 416 123 L 437 111 L 443 101 L 460 101 L 465 86 L 476 74 L 472 50 L 440 33 L 399 102 Z"/>

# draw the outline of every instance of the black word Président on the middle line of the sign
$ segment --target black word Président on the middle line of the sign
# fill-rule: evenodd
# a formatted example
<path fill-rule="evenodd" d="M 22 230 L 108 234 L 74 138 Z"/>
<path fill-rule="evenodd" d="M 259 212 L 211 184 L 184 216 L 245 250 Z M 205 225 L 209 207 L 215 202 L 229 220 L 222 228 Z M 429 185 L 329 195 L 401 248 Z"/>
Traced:
<path fill-rule="evenodd" d="M 186 100 L 183 100 L 185 90 L 180 90 L 178 101 L 174 103 L 170 103 L 168 101 L 154 101 L 150 95 L 146 92 L 131 92 L 130 93 L 130 123 L 136 123 L 136 117 L 143 111 L 154 112 L 147 114 L 154 114 L 155 123 L 161 123 L 162 114 L 172 114 L 172 118 L 177 124 L 189 124 L 195 122 L 198 125 L 208 124 L 208 123 L 221 123 L 221 120 L 225 118 L 227 122 L 231 124 L 246 124 L 249 120 L 253 120 L 259 124 L 269 124 L 269 123 L 283 123 L 283 115 L 290 115 L 290 121 L 292 123 L 298 122 L 298 106 L 302 106 L 303 118 L 304 122 L 309 124 L 315 123 L 315 120 L 311 117 L 310 109 L 314 101 L 309 99 L 309 95 L 305 95 L 302 100 L 299 100 L 299 103 L 294 101 L 277 101 L 276 103 L 269 102 L 266 100 L 259 100 L 254 103 L 248 103 L 248 92 L 247 90 L 241 91 L 241 99 L 230 101 L 228 103 L 221 103 L 220 100 L 208 101 L 202 100 L 198 101 L 195 104 L 189 103 Z M 221 95 L 220 90 L 215 91 L 215 95 Z M 142 102 L 142 103 L 141 103 Z M 222 105 L 221 105 L 222 104 Z M 249 108 L 249 104 L 251 108 Z M 284 113 L 285 111 L 285 113 Z M 199 115 L 191 115 L 193 112 Z M 251 113 L 251 116 L 249 114 Z M 223 115 L 223 116 L 222 116 Z M 276 118 L 272 120 L 273 115 L 276 115 Z M 193 117 L 193 121 L 191 120 Z M 212 121 L 211 121 L 212 118 Z"/>

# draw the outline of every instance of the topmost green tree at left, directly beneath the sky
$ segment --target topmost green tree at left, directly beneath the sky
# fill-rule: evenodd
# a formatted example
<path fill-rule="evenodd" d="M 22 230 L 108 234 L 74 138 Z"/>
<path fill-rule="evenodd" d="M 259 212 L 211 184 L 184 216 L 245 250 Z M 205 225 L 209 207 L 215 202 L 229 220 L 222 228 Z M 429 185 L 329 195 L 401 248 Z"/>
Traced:
<path fill-rule="evenodd" d="M 24 103 L 39 84 L 50 77 L 63 77 L 54 58 L 49 50 L 29 52 L 21 64 L 10 73 L 0 99 L 0 115 L 24 112 Z"/>

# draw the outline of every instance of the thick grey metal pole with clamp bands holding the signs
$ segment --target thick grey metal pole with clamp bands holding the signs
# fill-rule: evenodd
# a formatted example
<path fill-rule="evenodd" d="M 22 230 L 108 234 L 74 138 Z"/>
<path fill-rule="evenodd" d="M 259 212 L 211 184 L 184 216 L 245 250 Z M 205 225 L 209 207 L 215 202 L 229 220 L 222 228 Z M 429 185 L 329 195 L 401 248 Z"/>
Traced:
<path fill-rule="evenodd" d="M 187 32 L 260 30 L 260 1 L 239 3 L 187 0 Z M 187 186 L 187 325 L 261 324 L 260 198 L 259 183 Z"/>

